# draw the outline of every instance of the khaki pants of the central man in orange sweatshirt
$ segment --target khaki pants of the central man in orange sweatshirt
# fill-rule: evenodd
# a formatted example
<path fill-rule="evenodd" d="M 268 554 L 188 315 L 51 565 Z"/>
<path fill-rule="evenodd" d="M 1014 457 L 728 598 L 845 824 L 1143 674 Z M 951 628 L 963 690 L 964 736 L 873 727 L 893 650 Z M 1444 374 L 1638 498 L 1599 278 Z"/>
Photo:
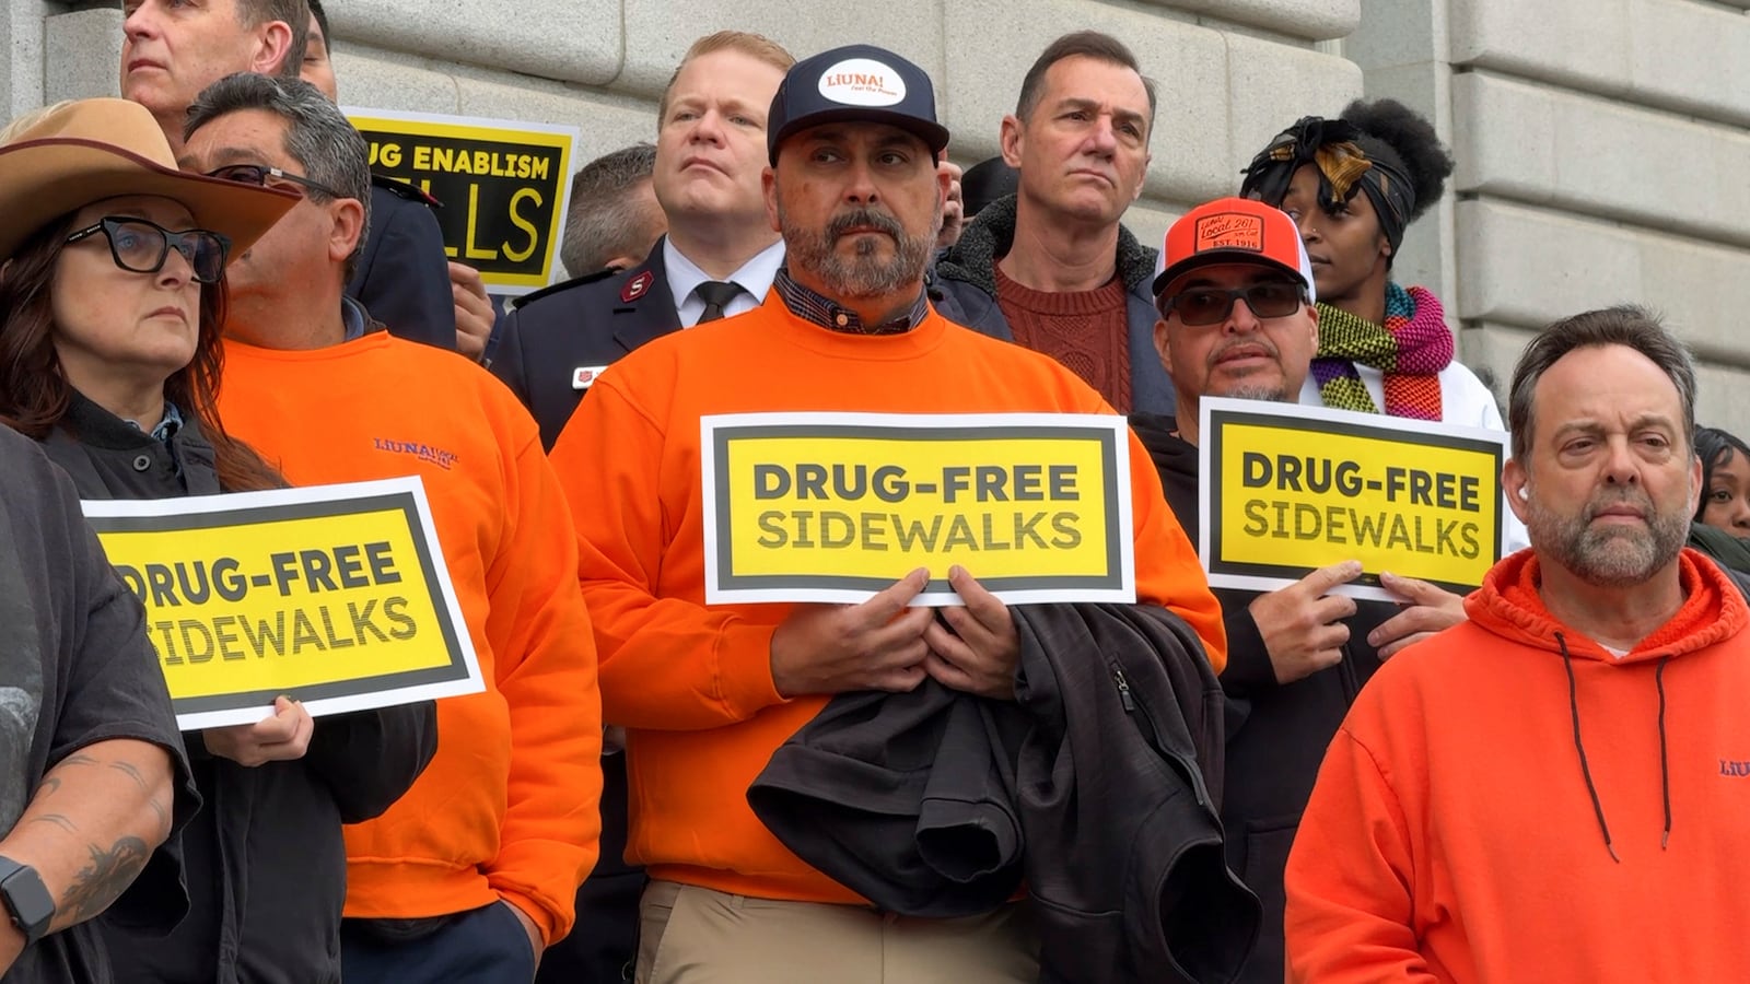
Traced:
<path fill-rule="evenodd" d="M 1027 903 L 914 919 L 653 881 L 639 919 L 637 984 L 1032 984 Z"/>

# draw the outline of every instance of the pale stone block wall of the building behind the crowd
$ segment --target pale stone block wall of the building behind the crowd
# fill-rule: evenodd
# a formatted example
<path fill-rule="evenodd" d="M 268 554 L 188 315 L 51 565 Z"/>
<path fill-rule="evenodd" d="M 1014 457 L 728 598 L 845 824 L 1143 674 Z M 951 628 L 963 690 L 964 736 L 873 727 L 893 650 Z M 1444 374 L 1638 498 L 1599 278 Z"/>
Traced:
<path fill-rule="evenodd" d="M 1130 42 L 1160 84 L 1144 240 L 1295 117 L 1360 95 L 1426 112 L 1447 200 L 1398 277 L 1447 301 L 1461 355 L 1505 390 L 1528 333 L 1642 301 L 1706 361 L 1701 418 L 1750 434 L 1750 0 L 332 0 L 348 105 L 583 128 L 583 159 L 648 140 L 686 46 L 766 33 L 796 54 L 866 40 L 936 81 L 950 154 L 996 152 L 1020 77 L 1055 35 Z M 0 110 L 114 95 L 121 12 L 5 0 Z"/>

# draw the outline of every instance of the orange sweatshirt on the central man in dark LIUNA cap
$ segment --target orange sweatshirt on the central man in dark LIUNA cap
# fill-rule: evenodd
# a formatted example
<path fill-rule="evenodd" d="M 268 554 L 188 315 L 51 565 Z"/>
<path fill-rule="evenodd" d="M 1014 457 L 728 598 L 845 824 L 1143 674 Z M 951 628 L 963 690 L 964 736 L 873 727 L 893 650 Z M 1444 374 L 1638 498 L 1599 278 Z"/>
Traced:
<path fill-rule="evenodd" d="M 772 681 L 772 630 L 791 606 L 704 604 L 700 417 L 782 410 L 1111 410 L 1052 359 L 934 312 L 905 334 L 844 334 L 791 315 L 774 292 L 611 366 L 553 446 L 581 538 L 604 716 L 628 728 L 628 856 L 654 877 L 728 893 L 861 902 L 747 807 L 772 751 L 826 704 L 784 700 Z M 1222 609 L 1134 436 L 1129 453 L 1138 595 L 1185 616 L 1220 669 Z"/>

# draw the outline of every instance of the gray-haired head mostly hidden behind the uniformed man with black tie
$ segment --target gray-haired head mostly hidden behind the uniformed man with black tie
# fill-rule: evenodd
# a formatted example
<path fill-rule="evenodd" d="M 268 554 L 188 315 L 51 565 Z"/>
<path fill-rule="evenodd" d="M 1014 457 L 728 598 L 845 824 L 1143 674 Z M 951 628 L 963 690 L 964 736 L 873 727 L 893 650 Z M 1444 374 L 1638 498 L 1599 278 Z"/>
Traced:
<path fill-rule="evenodd" d="M 616 256 L 644 256 L 662 233 L 632 193 L 651 180 L 654 168 L 656 147 L 634 144 L 583 165 L 570 179 L 570 208 L 558 249 L 565 273 L 583 277 L 604 270 Z"/>

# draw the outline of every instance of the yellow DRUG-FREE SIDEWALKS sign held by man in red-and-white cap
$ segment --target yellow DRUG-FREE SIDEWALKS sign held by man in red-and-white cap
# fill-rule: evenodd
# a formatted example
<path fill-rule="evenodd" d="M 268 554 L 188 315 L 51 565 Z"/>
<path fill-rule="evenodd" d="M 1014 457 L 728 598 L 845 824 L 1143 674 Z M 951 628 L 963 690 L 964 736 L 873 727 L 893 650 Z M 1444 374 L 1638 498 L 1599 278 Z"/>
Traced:
<path fill-rule="evenodd" d="M 1213 397 L 1200 418 L 1199 553 L 1213 587 L 1276 590 L 1360 560 L 1337 594 L 1402 601 L 1381 571 L 1463 594 L 1502 557 L 1505 432 Z"/>

